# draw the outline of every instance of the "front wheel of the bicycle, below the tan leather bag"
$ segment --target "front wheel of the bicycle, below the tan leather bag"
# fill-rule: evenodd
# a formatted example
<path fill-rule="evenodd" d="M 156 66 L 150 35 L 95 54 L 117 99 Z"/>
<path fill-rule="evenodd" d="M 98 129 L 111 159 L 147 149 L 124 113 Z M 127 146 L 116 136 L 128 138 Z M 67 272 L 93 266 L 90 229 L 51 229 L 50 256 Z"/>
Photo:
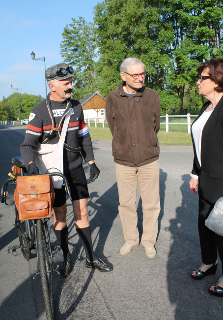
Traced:
<path fill-rule="evenodd" d="M 39 258 L 39 271 L 47 320 L 54 320 L 54 294 L 52 268 L 47 251 L 46 235 L 41 219 L 36 221 L 36 241 Z M 50 243 L 48 244 L 50 246 Z"/>

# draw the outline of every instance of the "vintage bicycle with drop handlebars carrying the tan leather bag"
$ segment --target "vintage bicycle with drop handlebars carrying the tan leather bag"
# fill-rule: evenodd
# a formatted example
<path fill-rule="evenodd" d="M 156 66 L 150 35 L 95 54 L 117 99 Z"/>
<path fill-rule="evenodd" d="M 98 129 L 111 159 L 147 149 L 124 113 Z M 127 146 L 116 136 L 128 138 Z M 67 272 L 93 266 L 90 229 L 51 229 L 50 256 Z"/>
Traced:
<path fill-rule="evenodd" d="M 24 173 L 27 172 L 22 157 L 13 158 L 12 163 L 14 164 L 12 166 L 13 174 L 10 174 L 10 178 L 4 181 L 0 192 L 0 201 L 6 205 L 8 204 L 6 202 L 8 185 L 15 185 L 17 175 L 24 176 Z M 53 176 L 60 176 L 63 179 L 66 192 L 72 201 L 69 183 L 62 173 L 48 172 L 45 175 L 50 176 L 50 179 L 52 179 Z M 24 258 L 29 261 L 31 251 L 36 250 L 37 271 L 34 278 L 36 275 L 40 275 L 47 320 L 55 320 L 52 273 L 59 272 L 54 266 L 53 251 L 56 251 L 57 247 L 52 246 L 50 242 L 49 220 L 50 218 L 21 221 L 15 205 L 14 225 L 18 231 L 19 245 L 9 247 L 8 252 L 11 251 L 13 255 L 18 255 L 17 250 L 21 249 Z"/>

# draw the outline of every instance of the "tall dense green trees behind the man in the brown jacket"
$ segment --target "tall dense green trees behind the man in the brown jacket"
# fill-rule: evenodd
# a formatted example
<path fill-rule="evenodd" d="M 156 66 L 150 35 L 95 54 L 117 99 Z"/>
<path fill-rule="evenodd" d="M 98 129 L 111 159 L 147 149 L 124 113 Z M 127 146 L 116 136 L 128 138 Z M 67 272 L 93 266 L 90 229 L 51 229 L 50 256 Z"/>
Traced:
<path fill-rule="evenodd" d="M 145 86 L 160 94 L 163 112 L 177 95 L 183 114 L 185 89 L 194 88 L 198 78 L 196 67 L 223 54 L 220 0 L 104 0 L 94 13 L 103 96 L 120 82 L 121 59 L 133 56 L 146 65 Z"/>

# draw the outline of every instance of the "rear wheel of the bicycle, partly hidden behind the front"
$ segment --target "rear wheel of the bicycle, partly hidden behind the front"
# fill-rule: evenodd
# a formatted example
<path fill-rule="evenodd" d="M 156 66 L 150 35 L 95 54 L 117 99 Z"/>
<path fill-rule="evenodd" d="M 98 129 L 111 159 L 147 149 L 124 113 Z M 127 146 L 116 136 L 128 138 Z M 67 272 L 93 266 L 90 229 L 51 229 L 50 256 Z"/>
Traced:
<path fill-rule="evenodd" d="M 25 220 L 24 223 L 21 223 L 21 221 L 19 220 L 19 214 L 18 214 L 18 210 L 17 210 L 16 206 L 15 206 L 15 214 L 16 214 L 15 225 L 17 228 L 18 236 L 19 236 L 19 243 L 21 245 L 21 250 L 22 250 L 22 253 L 23 253 L 23 256 L 25 257 L 25 259 L 27 259 L 29 261 L 31 250 L 30 250 L 30 243 L 28 240 L 27 221 Z"/>

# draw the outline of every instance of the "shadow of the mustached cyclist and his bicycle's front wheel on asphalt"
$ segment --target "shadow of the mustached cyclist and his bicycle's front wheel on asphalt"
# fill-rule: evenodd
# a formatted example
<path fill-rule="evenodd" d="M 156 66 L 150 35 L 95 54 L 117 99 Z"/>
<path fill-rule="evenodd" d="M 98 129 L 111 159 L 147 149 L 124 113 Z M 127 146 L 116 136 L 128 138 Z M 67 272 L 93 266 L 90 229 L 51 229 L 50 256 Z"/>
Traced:
<path fill-rule="evenodd" d="M 104 246 L 112 228 L 113 221 L 117 217 L 118 204 L 116 183 L 102 196 L 99 197 L 97 192 L 91 192 L 88 198 L 88 207 L 90 208 L 88 215 L 89 218 L 93 216 L 93 218 L 90 219 L 91 233 L 94 233 L 96 230 L 96 234 L 94 233 L 92 239 L 95 254 L 105 262 L 108 262 L 108 259 L 104 256 Z M 72 229 L 75 228 L 73 213 L 70 214 L 70 219 L 68 217 L 68 221 L 68 228 L 71 233 Z M 72 245 L 70 241 L 75 235 L 76 230 L 73 232 L 73 235 L 69 237 L 69 246 Z M 97 243 L 96 247 L 94 245 L 95 243 Z M 85 252 L 80 239 L 77 244 L 75 244 L 75 247 L 73 247 L 72 261 L 74 268 L 71 276 L 66 279 L 62 277 L 58 277 L 57 279 L 55 306 L 58 320 L 67 319 L 74 312 L 89 287 L 95 272 L 94 269 L 88 270 L 85 268 Z"/>

